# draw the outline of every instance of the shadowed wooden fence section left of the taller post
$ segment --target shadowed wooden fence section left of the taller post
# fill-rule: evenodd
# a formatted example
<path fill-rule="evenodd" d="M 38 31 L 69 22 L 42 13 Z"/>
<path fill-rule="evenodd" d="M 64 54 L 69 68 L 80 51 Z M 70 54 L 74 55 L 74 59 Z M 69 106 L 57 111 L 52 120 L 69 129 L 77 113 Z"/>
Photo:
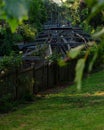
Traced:
<path fill-rule="evenodd" d="M 16 70 L 0 77 L 0 98 L 10 94 L 13 99 L 19 99 L 32 92 L 33 68 Z"/>

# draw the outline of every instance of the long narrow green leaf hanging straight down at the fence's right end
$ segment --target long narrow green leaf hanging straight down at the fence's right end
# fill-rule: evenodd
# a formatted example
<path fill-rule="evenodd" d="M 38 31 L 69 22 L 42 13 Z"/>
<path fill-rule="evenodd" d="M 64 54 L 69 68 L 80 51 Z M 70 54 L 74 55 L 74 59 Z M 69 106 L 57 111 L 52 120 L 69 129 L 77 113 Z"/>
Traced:
<path fill-rule="evenodd" d="M 82 58 L 82 59 L 78 60 L 78 63 L 76 66 L 75 82 L 77 83 L 78 90 L 81 90 L 81 82 L 82 82 L 84 67 L 85 67 L 85 59 Z"/>

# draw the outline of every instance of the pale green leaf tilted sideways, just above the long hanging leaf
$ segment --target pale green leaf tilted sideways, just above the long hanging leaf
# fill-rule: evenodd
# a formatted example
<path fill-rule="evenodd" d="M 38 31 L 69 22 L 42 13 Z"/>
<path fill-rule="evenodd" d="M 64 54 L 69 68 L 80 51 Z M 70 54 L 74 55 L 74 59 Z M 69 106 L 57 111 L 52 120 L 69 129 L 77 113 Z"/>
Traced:
<path fill-rule="evenodd" d="M 70 57 L 72 59 L 76 58 L 79 55 L 79 53 L 81 52 L 81 50 L 83 49 L 83 47 L 84 46 L 81 45 L 81 46 L 71 49 L 70 52 L 68 52 L 68 57 Z"/>

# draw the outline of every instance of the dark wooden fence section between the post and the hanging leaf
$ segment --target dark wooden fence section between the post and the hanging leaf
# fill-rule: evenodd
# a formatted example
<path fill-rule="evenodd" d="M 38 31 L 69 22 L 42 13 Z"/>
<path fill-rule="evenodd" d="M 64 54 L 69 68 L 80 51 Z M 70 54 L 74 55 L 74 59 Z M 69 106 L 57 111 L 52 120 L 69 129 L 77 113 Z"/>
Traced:
<path fill-rule="evenodd" d="M 57 64 L 48 65 L 34 71 L 34 93 L 55 87 L 57 84 L 72 82 L 75 75 L 76 60 L 66 66 L 60 67 Z"/>

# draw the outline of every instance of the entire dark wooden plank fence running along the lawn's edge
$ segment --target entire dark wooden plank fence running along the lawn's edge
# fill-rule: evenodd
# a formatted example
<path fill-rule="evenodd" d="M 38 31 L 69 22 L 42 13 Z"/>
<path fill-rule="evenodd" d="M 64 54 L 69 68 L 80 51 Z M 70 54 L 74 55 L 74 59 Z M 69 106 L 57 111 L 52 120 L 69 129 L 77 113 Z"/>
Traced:
<path fill-rule="evenodd" d="M 72 60 L 66 66 L 60 67 L 57 64 L 42 65 L 16 70 L 0 77 L 0 98 L 11 94 L 13 99 L 20 99 L 25 94 L 35 94 L 55 87 L 57 84 L 72 82 L 75 74 L 76 60 Z"/>

